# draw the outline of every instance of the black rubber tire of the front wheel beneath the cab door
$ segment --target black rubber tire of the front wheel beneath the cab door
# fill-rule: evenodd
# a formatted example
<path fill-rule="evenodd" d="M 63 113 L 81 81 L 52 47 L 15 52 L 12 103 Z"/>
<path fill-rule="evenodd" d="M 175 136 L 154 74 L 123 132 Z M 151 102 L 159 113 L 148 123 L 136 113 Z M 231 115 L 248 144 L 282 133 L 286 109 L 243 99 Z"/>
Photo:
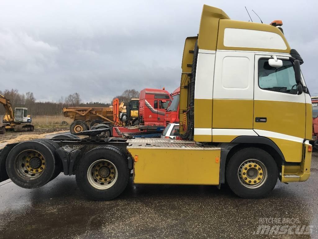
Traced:
<path fill-rule="evenodd" d="M 241 164 L 245 161 L 247 163 L 246 167 L 244 166 L 240 168 Z M 256 165 L 263 164 L 261 166 L 256 166 L 255 169 L 258 169 L 259 167 L 263 169 L 265 167 L 267 177 L 265 176 L 265 170 L 261 171 L 263 172 L 262 176 L 264 177 L 260 177 L 259 171 L 257 171 L 258 176 L 256 176 L 257 174 L 255 174 L 256 178 L 261 178 L 262 180 L 255 185 L 249 185 L 248 182 L 244 184 L 242 183 L 243 178 L 239 178 L 239 170 L 242 170 L 243 168 L 250 170 L 249 167 L 251 167 L 252 169 L 252 166 L 255 165 L 253 162 L 256 162 Z M 273 157 L 270 154 L 268 154 L 265 150 L 260 148 L 244 148 L 239 150 L 231 157 L 226 167 L 226 181 L 230 186 L 231 190 L 241 198 L 265 197 L 269 192 L 273 190 L 277 183 L 277 179 L 278 169 Z M 254 181 L 254 183 L 255 182 L 256 181 Z"/>

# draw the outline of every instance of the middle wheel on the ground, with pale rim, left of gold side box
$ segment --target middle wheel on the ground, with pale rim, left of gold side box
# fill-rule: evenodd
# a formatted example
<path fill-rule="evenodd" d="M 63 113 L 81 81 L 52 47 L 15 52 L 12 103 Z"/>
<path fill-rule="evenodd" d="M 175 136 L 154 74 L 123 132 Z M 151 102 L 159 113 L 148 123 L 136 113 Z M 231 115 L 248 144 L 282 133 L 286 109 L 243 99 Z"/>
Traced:
<path fill-rule="evenodd" d="M 111 200 L 126 188 L 129 171 L 127 159 L 118 148 L 101 146 L 80 160 L 76 183 L 89 199 Z"/>

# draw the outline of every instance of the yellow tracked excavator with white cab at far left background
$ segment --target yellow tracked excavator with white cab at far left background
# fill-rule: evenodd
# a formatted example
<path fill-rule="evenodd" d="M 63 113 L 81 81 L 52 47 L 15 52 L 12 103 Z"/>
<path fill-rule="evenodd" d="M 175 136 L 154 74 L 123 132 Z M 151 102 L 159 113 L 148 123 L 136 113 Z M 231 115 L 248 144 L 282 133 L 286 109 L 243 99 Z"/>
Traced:
<path fill-rule="evenodd" d="M 0 103 L 4 106 L 5 114 L 0 124 L 0 134 L 4 134 L 6 130 L 14 130 L 15 132 L 33 131 L 34 126 L 31 125 L 32 117 L 28 115 L 27 108 L 15 108 L 14 113 L 10 104 L 10 100 L 0 95 Z"/>

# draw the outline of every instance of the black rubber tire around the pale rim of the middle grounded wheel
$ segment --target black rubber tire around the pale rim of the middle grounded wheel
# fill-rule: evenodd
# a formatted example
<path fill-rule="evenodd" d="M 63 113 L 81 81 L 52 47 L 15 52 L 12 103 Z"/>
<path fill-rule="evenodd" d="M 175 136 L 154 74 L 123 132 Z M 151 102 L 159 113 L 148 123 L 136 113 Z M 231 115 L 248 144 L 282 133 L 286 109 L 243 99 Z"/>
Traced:
<path fill-rule="evenodd" d="M 98 189 L 89 182 L 87 172 L 98 160 L 108 160 L 117 170 L 116 181 L 107 189 Z M 89 199 L 101 201 L 118 197 L 128 184 L 129 173 L 127 159 L 118 148 L 100 146 L 90 150 L 80 159 L 75 175 L 80 191 Z M 99 182 L 96 180 L 96 183 Z"/>

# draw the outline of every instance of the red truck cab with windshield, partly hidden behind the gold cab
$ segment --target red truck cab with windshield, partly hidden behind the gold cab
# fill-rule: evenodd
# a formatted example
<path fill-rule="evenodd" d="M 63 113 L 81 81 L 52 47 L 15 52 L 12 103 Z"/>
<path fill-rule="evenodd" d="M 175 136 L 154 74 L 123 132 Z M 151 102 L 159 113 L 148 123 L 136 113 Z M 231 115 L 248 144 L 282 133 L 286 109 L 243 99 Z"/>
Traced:
<path fill-rule="evenodd" d="M 167 127 L 169 123 L 179 122 L 179 99 L 180 99 L 180 87 L 172 92 L 168 109 L 164 117 L 164 126 Z"/>

